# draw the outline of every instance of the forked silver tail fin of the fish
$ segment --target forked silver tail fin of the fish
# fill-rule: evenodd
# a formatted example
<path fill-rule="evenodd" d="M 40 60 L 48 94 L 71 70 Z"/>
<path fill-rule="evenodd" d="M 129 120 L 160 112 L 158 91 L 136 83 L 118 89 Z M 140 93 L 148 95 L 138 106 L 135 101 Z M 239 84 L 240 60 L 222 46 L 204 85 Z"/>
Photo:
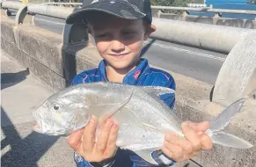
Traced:
<path fill-rule="evenodd" d="M 248 149 L 253 147 L 250 142 L 247 142 L 236 135 L 223 132 L 224 127 L 229 125 L 235 115 L 241 111 L 244 103 L 244 98 L 239 99 L 223 110 L 216 119 L 211 120 L 207 134 L 211 137 L 213 143 L 237 149 Z"/>

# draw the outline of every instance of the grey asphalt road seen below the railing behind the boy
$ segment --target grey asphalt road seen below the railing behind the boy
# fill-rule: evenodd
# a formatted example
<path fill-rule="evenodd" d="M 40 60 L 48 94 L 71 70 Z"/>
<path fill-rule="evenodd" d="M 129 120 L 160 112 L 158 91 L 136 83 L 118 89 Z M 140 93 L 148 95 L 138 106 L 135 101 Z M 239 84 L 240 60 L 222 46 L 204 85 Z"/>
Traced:
<path fill-rule="evenodd" d="M 15 15 L 15 12 L 12 12 Z M 10 18 L 14 18 L 11 16 Z M 36 15 L 35 25 L 62 34 L 65 21 Z M 193 77 L 208 84 L 215 84 L 226 54 L 219 54 L 194 47 L 186 47 L 161 40 L 145 42 L 145 58 L 150 63 L 181 75 Z"/>

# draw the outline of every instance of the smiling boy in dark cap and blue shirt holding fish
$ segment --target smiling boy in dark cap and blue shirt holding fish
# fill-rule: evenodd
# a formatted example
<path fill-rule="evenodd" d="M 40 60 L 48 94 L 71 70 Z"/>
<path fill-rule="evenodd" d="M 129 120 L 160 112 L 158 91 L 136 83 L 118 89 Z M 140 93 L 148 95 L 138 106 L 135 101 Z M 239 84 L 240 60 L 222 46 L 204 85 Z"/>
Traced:
<path fill-rule="evenodd" d="M 175 90 L 170 74 L 150 68 L 148 61 L 141 57 L 143 40 L 156 30 L 151 25 L 150 0 L 94 0 L 72 13 L 66 21 L 87 24 L 87 31 L 103 58 L 99 68 L 78 74 L 72 84 L 109 81 Z M 160 98 L 173 108 L 175 97 L 172 94 Z M 69 136 L 69 145 L 76 150 L 77 166 L 152 166 L 132 151 L 116 147 L 118 122 L 107 120 L 101 127 L 98 142 L 94 142 L 96 127 L 97 118 L 93 117 L 88 126 Z M 185 139 L 166 134 L 163 149 L 152 153 L 159 166 L 172 166 L 197 155 L 201 149 L 211 149 L 212 142 L 203 133 L 208 129 L 208 122 L 186 122 L 182 128 Z"/>

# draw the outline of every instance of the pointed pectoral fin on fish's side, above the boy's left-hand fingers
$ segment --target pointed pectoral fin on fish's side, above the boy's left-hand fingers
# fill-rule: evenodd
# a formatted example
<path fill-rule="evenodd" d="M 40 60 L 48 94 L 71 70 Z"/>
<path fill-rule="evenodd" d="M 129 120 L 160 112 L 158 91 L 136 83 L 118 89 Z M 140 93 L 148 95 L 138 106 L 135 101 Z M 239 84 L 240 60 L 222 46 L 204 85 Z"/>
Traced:
<path fill-rule="evenodd" d="M 124 105 L 128 103 L 130 98 L 132 98 L 133 93 L 131 93 L 128 98 L 121 101 L 120 103 L 110 103 L 110 104 L 96 104 L 96 105 L 90 105 L 88 106 L 90 111 L 93 111 L 93 115 L 98 117 L 98 123 L 99 126 L 109 117 L 111 117 L 114 113 L 117 113 L 118 111 L 123 108 Z"/>

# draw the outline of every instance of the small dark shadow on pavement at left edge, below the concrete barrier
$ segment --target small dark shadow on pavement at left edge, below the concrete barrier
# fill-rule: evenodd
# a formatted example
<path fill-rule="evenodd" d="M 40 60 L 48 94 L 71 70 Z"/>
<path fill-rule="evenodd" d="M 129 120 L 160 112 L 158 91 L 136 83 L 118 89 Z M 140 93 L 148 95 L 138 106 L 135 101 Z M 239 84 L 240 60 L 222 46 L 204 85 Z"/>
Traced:
<path fill-rule="evenodd" d="M 1 73 L 1 90 L 24 81 L 29 74 L 28 68 L 17 73 Z"/>

